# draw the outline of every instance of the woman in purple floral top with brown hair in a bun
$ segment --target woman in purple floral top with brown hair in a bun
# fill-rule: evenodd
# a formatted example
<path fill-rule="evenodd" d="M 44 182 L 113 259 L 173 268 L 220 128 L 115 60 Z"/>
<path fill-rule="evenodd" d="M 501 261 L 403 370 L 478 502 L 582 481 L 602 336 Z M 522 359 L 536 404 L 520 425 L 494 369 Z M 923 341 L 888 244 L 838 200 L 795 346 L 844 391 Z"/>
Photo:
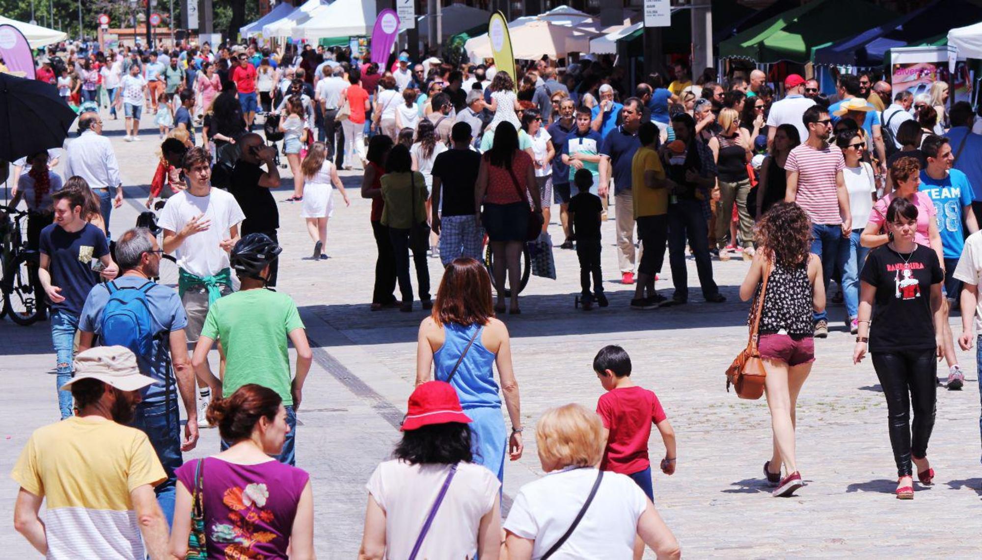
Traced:
<path fill-rule="evenodd" d="M 222 439 L 218 455 L 199 459 L 208 558 L 313 558 L 313 493 L 305 471 L 275 456 L 290 431 L 282 399 L 249 383 L 226 399 L 213 399 L 207 419 Z M 273 457 L 271 457 L 272 455 Z M 188 554 L 191 494 L 198 461 L 176 471 L 171 553 Z"/>

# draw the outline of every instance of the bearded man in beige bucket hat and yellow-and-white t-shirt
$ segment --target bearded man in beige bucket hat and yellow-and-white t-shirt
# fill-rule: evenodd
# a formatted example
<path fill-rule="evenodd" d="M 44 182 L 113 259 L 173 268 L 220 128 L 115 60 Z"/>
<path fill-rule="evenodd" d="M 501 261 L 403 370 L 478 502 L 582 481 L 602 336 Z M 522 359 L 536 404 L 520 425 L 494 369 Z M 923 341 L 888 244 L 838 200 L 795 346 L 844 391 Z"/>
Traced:
<path fill-rule="evenodd" d="M 21 485 L 14 526 L 47 558 L 167 555 L 167 521 L 153 492 L 167 475 L 146 434 L 124 426 L 139 389 L 153 382 L 123 346 L 77 356 L 62 390 L 72 391 L 78 416 L 34 431 L 11 473 Z"/>

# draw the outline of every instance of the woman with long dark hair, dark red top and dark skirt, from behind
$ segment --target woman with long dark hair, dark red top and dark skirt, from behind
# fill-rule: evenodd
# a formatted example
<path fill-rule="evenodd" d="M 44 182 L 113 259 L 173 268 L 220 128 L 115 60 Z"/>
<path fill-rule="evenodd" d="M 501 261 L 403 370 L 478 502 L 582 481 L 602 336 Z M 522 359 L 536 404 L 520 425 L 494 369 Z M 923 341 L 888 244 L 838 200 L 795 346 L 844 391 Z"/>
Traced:
<path fill-rule="evenodd" d="M 498 291 L 495 312 L 505 312 L 507 271 L 512 289 L 509 313 L 518 315 L 521 312 L 518 309 L 519 258 L 531 216 L 529 198 L 536 214 L 542 213 L 542 199 L 532 158 L 518 149 L 518 130 L 511 123 L 504 122 L 495 129 L 494 144 L 481 156 L 475 186 L 477 221 L 487 230 L 494 255 L 494 283 Z"/>

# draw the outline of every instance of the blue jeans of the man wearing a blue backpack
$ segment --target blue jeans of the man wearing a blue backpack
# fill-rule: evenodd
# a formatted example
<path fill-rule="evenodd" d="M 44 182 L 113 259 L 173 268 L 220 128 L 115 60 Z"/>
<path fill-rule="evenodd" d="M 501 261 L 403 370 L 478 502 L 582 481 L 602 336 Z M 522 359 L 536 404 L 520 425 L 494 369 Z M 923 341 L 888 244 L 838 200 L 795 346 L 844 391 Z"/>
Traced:
<path fill-rule="evenodd" d="M 177 388 L 173 387 L 171 406 L 168 409 L 166 400 L 156 403 L 140 403 L 136 407 L 131 426 L 146 433 L 150 445 L 157 452 L 157 459 L 167 473 L 167 480 L 154 488 L 157 493 L 157 503 L 167 518 L 167 525 L 174 519 L 174 496 L 177 492 L 178 478 L 174 471 L 184 464 L 181 456 L 181 415 L 178 412 Z"/>

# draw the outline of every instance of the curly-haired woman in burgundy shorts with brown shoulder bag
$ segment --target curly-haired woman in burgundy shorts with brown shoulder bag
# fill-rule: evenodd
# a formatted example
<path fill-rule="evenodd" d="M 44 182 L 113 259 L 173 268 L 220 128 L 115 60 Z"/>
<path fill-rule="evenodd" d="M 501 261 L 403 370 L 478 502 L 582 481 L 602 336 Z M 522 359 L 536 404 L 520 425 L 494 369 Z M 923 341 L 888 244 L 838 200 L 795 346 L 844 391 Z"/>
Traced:
<path fill-rule="evenodd" d="M 753 299 L 751 309 L 756 309 L 761 284 L 769 275 L 757 331 L 774 431 L 774 450 L 764 463 L 764 476 L 777 486 L 773 495 L 783 497 L 803 485 L 794 458 L 794 406 L 815 361 L 812 312 L 825 309 L 825 285 L 815 281 L 822 278 L 822 262 L 809 253 L 811 222 L 797 204 L 772 206 L 757 225 L 756 241 L 757 252 L 739 296 Z"/>

